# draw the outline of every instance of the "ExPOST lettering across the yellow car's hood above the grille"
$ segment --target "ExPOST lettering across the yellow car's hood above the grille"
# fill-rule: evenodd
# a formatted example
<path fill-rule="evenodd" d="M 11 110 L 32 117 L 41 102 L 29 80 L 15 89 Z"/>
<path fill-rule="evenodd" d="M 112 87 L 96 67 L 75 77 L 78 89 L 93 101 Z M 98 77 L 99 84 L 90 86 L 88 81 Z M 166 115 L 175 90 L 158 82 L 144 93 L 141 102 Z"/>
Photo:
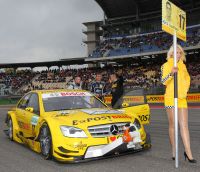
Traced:
<path fill-rule="evenodd" d="M 85 120 L 73 120 L 73 125 L 83 124 L 83 123 L 89 123 L 93 121 L 101 121 L 101 120 L 112 120 L 112 119 L 132 119 L 128 115 L 111 115 L 111 116 L 99 116 L 94 118 L 87 118 Z"/>

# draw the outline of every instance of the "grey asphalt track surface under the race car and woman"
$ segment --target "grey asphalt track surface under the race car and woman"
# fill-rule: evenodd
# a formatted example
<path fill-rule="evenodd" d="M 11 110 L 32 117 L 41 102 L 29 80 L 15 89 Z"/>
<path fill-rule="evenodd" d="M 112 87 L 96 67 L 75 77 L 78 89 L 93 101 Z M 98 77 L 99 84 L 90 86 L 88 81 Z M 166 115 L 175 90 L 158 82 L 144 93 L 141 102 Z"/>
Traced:
<path fill-rule="evenodd" d="M 168 123 L 163 109 L 151 110 L 152 149 L 131 155 L 79 164 L 60 164 L 46 161 L 23 145 L 11 142 L 4 135 L 7 109 L 0 108 L 0 172 L 199 172 L 200 171 L 200 109 L 189 110 L 191 145 L 197 164 L 184 161 L 183 145 L 179 139 L 179 169 L 171 159 Z"/>

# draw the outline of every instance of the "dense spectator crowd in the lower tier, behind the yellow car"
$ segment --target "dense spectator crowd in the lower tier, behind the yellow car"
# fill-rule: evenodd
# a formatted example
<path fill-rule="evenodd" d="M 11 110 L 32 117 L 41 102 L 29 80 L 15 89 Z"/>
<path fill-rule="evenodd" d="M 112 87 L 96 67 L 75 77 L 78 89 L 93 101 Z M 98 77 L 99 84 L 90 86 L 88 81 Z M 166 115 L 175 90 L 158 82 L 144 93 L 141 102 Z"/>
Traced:
<path fill-rule="evenodd" d="M 191 61 L 187 64 L 191 76 L 191 88 L 200 90 L 200 60 Z M 105 89 L 109 92 L 111 85 L 109 75 L 113 72 L 122 75 L 124 78 L 125 89 L 144 88 L 146 90 L 160 87 L 160 67 L 161 64 L 143 63 L 129 64 L 123 66 L 105 66 L 102 68 L 84 69 L 63 69 L 45 70 L 41 72 L 31 72 L 30 70 L 20 70 L 16 73 L 0 73 L 0 84 L 11 87 L 12 92 L 16 93 L 20 89 L 21 94 L 34 89 L 57 89 L 68 88 L 73 82 L 73 78 L 80 76 L 82 88 L 90 90 L 91 83 L 95 80 L 96 74 L 102 75 L 105 82 Z M 61 87 L 45 87 L 45 84 L 57 83 Z M 26 87 L 25 87 L 26 86 Z"/>

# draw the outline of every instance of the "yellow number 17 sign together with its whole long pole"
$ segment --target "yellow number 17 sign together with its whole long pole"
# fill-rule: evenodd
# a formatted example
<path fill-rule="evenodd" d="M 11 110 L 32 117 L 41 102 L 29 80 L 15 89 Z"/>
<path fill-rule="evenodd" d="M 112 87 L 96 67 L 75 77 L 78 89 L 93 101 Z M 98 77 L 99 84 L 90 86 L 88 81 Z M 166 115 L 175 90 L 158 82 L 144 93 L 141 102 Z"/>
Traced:
<path fill-rule="evenodd" d="M 186 12 L 169 0 L 162 0 L 162 30 L 173 35 L 174 67 L 177 67 L 177 38 L 186 41 Z M 174 73 L 174 141 L 175 168 L 179 166 L 178 157 L 178 72 Z"/>

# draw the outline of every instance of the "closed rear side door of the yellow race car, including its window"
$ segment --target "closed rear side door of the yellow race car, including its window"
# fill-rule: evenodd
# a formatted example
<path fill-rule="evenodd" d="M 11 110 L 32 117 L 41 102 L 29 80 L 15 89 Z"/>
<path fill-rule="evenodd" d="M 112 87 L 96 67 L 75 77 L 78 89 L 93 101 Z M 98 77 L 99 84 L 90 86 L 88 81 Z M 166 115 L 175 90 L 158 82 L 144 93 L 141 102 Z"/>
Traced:
<path fill-rule="evenodd" d="M 28 107 L 28 103 L 31 97 L 31 93 L 26 94 L 18 103 L 16 108 L 16 119 L 19 125 L 20 134 L 26 136 L 26 131 L 31 127 L 25 120 L 27 111 L 25 110 Z"/>

